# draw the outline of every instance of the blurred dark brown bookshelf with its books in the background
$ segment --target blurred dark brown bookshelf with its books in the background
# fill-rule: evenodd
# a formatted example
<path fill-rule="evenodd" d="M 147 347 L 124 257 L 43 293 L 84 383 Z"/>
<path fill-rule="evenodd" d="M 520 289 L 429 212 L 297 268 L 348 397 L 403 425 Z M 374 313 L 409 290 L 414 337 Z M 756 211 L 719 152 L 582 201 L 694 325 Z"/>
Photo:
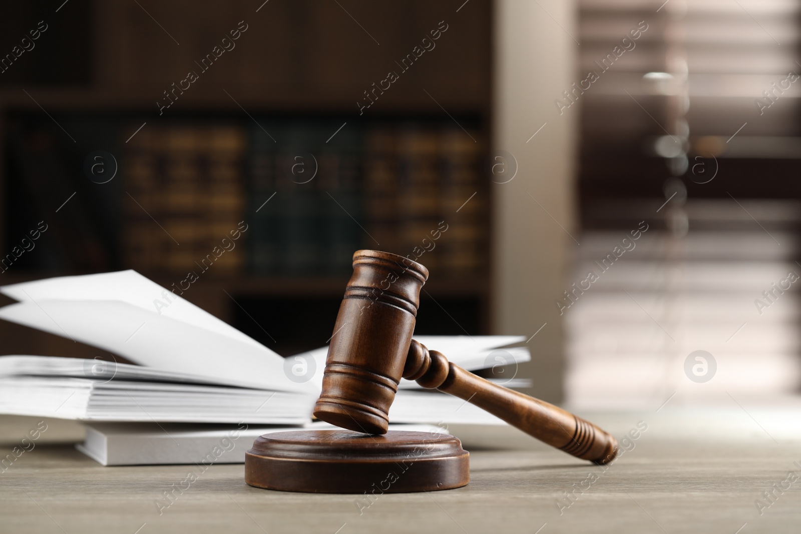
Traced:
<path fill-rule="evenodd" d="M 196 30 L 176 34 L 179 47 L 135 4 L 72 3 L 91 72 L 0 79 L 3 250 L 38 221 L 51 229 L 3 283 L 133 268 L 188 283 L 186 299 L 287 355 L 327 342 L 353 251 L 377 248 L 431 271 L 419 333 L 488 331 L 489 2 L 449 20 L 405 85 L 364 114 L 350 102 L 451 6 L 358 7 L 380 46 L 343 33 L 336 3 L 154 6 L 167 27 Z M 34 8 L 14 26 L 40 17 L 60 27 Z M 243 19 L 230 57 L 159 114 L 154 100 Z M 115 159 L 107 183 L 84 169 L 95 151 Z"/>

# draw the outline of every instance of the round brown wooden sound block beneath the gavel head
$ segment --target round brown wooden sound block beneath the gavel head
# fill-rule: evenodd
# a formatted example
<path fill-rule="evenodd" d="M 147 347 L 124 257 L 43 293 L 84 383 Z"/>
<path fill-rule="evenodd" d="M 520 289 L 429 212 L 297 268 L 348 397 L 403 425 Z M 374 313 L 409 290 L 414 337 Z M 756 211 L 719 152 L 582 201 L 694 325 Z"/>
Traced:
<path fill-rule="evenodd" d="M 282 492 L 433 492 L 465 486 L 469 456 L 458 438 L 432 432 L 275 432 L 245 453 L 245 482 Z"/>

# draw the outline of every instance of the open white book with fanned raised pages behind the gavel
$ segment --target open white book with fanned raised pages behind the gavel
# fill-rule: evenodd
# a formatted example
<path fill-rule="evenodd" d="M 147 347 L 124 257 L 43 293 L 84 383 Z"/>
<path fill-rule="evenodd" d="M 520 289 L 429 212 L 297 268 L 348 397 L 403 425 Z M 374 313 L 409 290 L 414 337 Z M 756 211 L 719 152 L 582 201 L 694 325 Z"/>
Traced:
<path fill-rule="evenodd" d="M 94 421 L 308 424 L 328 347 L 284 359 L 135 271 L 0 287 L 18 303 L 0 319 L 123 356 L 128 363 L 0 356 L 0 413 Z M 521 336 L 416 336 L 468 370 L 530 359 Z M 392 423 L 501 423 L 479 408 L 402 380 Z"/>

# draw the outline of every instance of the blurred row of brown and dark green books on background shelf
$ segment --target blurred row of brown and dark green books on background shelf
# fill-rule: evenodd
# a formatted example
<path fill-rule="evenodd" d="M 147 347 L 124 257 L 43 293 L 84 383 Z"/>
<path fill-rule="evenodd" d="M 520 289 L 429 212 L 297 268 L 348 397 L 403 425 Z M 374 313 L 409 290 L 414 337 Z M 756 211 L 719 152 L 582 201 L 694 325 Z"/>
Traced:
<path fill-rule="evenodd" d="M 488 239 L 477 140 L 453 122 L 147 124 L 118 142 L 115 255 L 150 273 L 336 275 L 367 247 L 473 274 Z M 38 167 L 18 171 L 42 183 Z"/>

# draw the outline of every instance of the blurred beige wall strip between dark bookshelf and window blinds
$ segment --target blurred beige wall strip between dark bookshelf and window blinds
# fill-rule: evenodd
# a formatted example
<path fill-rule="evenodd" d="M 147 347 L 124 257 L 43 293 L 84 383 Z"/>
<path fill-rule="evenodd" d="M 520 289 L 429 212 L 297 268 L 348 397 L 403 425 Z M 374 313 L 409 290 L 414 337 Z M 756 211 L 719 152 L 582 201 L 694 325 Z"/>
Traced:
<path fill-rule="evenodd" d="M 570 234 L 578 237 L 579 116 L 575 106 L 560 115 L 553 101 L 577 81 L 578 43 L 570 37 L 577 16 L 574 0 L 497 0 L 494 7 L 493 333 L 529 338 L 546 323 L 529 339 L 532 361 L 518 376 L 552 402 L 562 399 L 564 370 L 555 302 L 570 286 L 577 246 Z"/>

